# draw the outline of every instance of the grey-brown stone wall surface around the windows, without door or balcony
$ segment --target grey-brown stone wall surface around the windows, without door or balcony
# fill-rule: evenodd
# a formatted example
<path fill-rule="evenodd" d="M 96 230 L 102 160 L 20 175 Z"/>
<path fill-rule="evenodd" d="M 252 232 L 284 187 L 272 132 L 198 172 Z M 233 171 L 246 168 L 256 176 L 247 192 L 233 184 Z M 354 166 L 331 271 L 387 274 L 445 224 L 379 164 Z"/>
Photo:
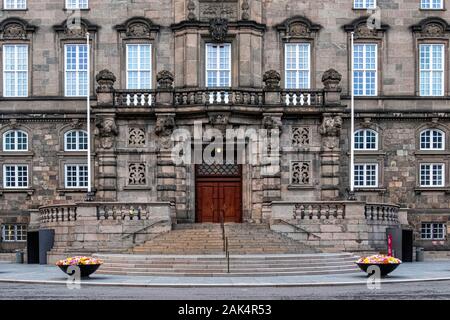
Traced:
<path fill-rule="evenodd" d="M 195 7 L 191 10 L 188 1 L 182 0 L 89 1 L 89 10 L 80 14 L 81 18 L 86 19 L 83 21 L 88 21 L 93 28 L 94 55 L 90 74 L 94 109 L 97 107 L 94 75 L 100 70 L 109 69 L 117 78 L 115 88 L 125 88 L 126 39 L 115 26 L 133 17 L 149 19 L 152 26 L 159 27 L 144 41 L 153 45 L 153 88 L 157 85 L 156 74 L 162 70 L 174 74 L 175 87 L 205 86 L 203 46 L 211 40 L 208 10 L 204 7 L 207 1 L 193 2 Z M 217 3 L 210 2 L 212 4 L 209 5 L 218 9 Z M 248 2 L 249 9 L 245 10 L 242 1 L 227 2 L 231 8 L 228 10 L 231 18 L 226 41 L 233 46 L 232 86 L 261 89 L 263 74 L 274 69 L 281 74 L 283 88 L 284 44 L 286 41 L 307 40 L 312 44 L 311 88 L 322 89 L 324 72 L 329 68 L 336 69 L 342 75 L 339 84 L 342 100 L 339 99 L 338 103 L 348 107 L 349 33 L 344 31 L 343 26 L 366 16 L 367 12 L 353 10 L 350 0 Z M 368 159 L 379 163 L 380 185 L 370 191 L 358 190 L 356 196 L 361 201 L 398 203 L 411 210 L 414 221 L 431 219 L 429 214 L 433 217 L 445 216 L 450 208 L 450 170 L 446 171 L 444 188 L 423 190 L 418 187 L 418 165 L 420 161 L 439 161 L 450 168 L 449 102 L 417 96 L 417 43 L 410 26 L 431 16 L 440 17 L 448 23 L 450 13 L 447 10 L 419 10 L 418 1 L 377 2 L 381 8 L 382 24 L 389 26 L 376 37 L 380 57 L 379 92 L 378 97 L 356 99 L 356 125 L 357 128 L 365 125 L 379 132 L 379 150 L 357 154 L 357 160 Z M 2 21 L 17 17 L 36 27 L 28 32 L 28 40 L 21 40 L 30 44 L 29 98 L 2 98 L 0 101 L 0 133 L 13 127 L 24 130 L 29 133 L 31 146 L 30 151 L 24 153 L 6 154 L 0 151 L 0 165 L 23 163 L 30 168 L 27 190 L 11 192 L 0 187 L 1 224 L 27 223 L 31 209 L 49 203 L 77 202 L 85 196 L 84 190 L 69 191 L 63 183 L 64 164 L 68 161 L 80 163 L 85 157 L 84 153 L 64 152 L 63 134 L 72 128 L 86 127 L 84 99 L 63 96 L 65 42 L 61 41 L 64 37 L 62 32 L 55 30 L 54 26 L 73 18 L 72 12 L 63 10 L 63 5 L 61 0 L 28 1 L 28 10 L 3 11 L 0 17 Z M 188 20 L 190 14 L 194 15 L 192 20 Z M 301 21 L 309 21 L 309 27 L 317 27 L 316 31 L 310 28 L 306 37 L 297 40 L 295 36 L 293 40 L 292 37 L 286 38 L 282 24 L 296 16 L 301 16 Z M 242 21 L 237 23 L 237 20 Z M 447 34 L 442 36 L 444 39 L 447 37 Z M 1 43 L 6 42 L 2 38 Z M 448 71 L 446 80 L 450 80 Z M 0 85 L 0 94 L 2 87 Z M 446 94 L 448 91 L 446 88 Z M 337 111 L 330 111 L 331 107 L 327 106 L 323 110 L 311 112 L 310 109 L 302 109 L 296 113 L 280 106 L 269 110 L 270 117 L 279 118 L 282 129 L 281 171 L 275 176 L 266 176 L 258 165 L 244 167 L 244 221 L 265 220 L 265 215 L 270 216 L 267 208 L 273 200 L 347 198 L 348 114 L 344 116 L 340 133 L 320 132 L 324 118 L 335 116 L 324 114 L 342 114 L 343 107 Z M 113 138 L 115 145 L 103 148 L 102 137 L 95 129 L 94 182 L 95 187 L 99 188 L 98 194 L 107 200 L 123 202 L 174 201 L 180 221 L 195 221 L 194 167 L 167 163 L 168 155 L 161 152 L 164 147 L 158 144 L 161 137 L 155 135 L 155 127 L 158 117 L 169 113 L 175 127 L 192 130 L 195 119 L 210 122 L 208 112 L 211 110 L 203 105 L 184 109 L 170 105 L 166 109 L 158 107 L 156 111 L 129 110 L 122 113 L 114 108 L 107 109 L 97 107 L 96 117 L 114 118 L 118 130 Z M 264 128 L 268 109 L 268 106 L 236 106 L 231 110 L 228 127 Z M 224 108 L 222 111 L 229 113 L 230 109 Z M 93 119 L 93 128 L 95 121 Z M 427 126 L 437 126 L 446 133 L 445 151 L 431 154 L 418 150 L 418 132 Z M 329 142 L 338 135 L 340 145 L 331 150 L 324 147 L 325 141 Z M 130 173 L 133 173 L 132 179 Z M 427 247 L 427 243 L 420 244 Z M 0 244 L 0 248 L 5 250 L 16 246 L 23 245 Z"/>

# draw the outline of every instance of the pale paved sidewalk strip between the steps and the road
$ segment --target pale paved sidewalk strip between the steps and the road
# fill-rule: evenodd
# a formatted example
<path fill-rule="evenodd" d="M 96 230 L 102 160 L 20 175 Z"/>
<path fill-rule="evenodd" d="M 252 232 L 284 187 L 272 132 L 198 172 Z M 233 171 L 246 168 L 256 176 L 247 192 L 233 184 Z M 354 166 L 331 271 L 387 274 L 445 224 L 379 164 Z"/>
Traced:
<path fill-rule="evenodd" d="M 404 263 L 382 283 L 450 280 L 450 260 Z M 0 264 L 0 282 L 67 284 L 67 277 L 52 265 Z M 92 275 L 82 285 L 131 287 L 289 287 L 366 284 L 362 272 L 333 275 L 277 277 L 179 277 Z"/>

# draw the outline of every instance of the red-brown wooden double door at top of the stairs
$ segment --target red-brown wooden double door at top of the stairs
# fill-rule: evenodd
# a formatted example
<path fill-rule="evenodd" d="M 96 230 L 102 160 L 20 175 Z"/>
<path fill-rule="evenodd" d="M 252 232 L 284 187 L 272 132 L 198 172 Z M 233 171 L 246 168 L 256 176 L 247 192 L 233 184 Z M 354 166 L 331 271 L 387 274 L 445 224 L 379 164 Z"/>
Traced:
<path fill-rule="evenodd" d="M 240 172 L 240 171 L 239 171 Z M 196 177 L 197 222 L 242 221 L 242 182 L 239 176 Z"/>

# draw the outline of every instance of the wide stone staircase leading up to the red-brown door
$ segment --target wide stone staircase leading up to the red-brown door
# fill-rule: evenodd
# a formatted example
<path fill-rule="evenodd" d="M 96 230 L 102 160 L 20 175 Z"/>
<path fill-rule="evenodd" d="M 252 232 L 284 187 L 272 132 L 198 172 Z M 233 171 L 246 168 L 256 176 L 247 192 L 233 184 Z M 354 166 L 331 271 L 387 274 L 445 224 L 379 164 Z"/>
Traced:
<path fill-rule="evenodd" d="M 290 276 L 357 272 L 350 253 L 317 253 L 265 224 L 177 225 L 126 254 L 104 260 L 100 274 L 136 276 Z"/>

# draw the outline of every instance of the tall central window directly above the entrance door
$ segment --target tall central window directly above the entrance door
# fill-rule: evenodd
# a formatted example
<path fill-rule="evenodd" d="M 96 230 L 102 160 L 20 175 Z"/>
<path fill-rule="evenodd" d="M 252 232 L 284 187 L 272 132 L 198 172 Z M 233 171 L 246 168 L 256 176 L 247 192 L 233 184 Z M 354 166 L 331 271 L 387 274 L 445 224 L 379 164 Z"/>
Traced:
<path fill-rule="evenodd" d="M 206 45 L 206 86 L 231 87 L 231 45 Z"/>

